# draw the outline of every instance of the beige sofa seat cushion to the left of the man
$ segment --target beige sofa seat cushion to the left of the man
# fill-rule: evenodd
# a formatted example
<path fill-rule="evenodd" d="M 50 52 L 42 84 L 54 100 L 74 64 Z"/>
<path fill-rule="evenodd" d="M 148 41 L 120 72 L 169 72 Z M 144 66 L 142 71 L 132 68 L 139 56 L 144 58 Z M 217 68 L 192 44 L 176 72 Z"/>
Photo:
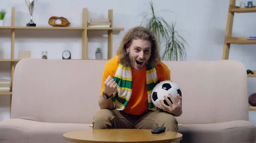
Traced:
<path fill-rule="evenodd" d="M 25 119 L 0 122 L 1 143 L 69 143 L 63 139 L 66 132 L 92 129 L 90 124 L 45 123 Z"/>

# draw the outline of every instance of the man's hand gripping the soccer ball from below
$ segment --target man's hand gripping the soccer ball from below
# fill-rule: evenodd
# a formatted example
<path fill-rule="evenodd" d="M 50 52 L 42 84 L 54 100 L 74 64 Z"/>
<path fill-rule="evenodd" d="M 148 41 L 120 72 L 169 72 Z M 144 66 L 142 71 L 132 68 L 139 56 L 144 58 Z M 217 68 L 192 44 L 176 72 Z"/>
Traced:
<path fill-rule="evenodd" d="M 169 104 L 169 106 L 164 104 L 163 101 L 160 101 L 159 106 L 164 111 L 169 112 L 174 116 L 180 116 L 182 114 L 182 97 L 178 94 L 179 101 L 177 103 L 175 102 L 174 98 L 172 97 L 172 95 L 170 93 L 169 93 L 169 97 L 171 98 L 172 103 L 166 96 L 164 96 L 164 98 L 167 101 L 167 103 Z"/>

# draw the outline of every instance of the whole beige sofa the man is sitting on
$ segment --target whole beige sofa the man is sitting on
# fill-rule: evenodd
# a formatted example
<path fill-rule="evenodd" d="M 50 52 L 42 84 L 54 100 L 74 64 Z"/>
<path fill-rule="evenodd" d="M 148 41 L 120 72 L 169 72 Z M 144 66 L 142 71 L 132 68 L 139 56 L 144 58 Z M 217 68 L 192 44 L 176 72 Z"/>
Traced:
<path fill-rule="evenodd" d="M 68 143 L 66 132 L 92 129 L 108 61 L 23 59 L 14 73 L 12 118 L 0 143 Z M 183 93 L 180 143 L 255 143 L 248 121 L 247 74 L 237 61 L 164 62 Z"/>

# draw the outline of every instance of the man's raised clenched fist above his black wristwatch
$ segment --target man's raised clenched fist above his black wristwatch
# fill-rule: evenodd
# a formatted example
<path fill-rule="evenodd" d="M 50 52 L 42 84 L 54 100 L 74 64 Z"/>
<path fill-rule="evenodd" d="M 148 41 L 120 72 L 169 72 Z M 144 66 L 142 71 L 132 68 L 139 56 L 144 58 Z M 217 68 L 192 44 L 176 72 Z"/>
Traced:
<path fill-rule="evenodd" d="M 112 95 L 117 88 L 116 81 L 114 81 L 111 76 L 108 76 L 108 78 L 105 80 L 104 86 L 104 93 L 106 93 L 108 96 Z"/>

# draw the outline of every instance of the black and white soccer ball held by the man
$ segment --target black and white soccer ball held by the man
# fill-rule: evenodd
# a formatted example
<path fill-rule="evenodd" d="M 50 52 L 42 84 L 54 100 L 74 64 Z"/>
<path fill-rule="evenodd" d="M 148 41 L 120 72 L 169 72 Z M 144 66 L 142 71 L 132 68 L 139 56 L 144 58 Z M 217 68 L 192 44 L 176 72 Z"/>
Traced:
<path fill-rule="evenodd" d="M 160 100 L 164 102 L 167 106 L 169 104 L 164 99 L 164 95 L 171 101 L 171 98 L 169 97 L 169 93 L 171 93 L 172 97 L 175 99 L 175 102 L 177 103 L 179 101 L 178 94 L 181 95 L 180 87 L 173 81 L 161 81 L 158 83 L 152 90 L 151 94 L 151 101 L 154 104 L 155 107 L 158 107 L 159 109 L 162 109 L 159 104 Z M 172 101 L 171 101 L 172 103 Z"/>

